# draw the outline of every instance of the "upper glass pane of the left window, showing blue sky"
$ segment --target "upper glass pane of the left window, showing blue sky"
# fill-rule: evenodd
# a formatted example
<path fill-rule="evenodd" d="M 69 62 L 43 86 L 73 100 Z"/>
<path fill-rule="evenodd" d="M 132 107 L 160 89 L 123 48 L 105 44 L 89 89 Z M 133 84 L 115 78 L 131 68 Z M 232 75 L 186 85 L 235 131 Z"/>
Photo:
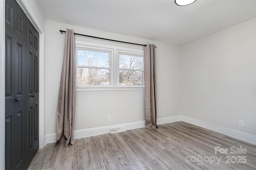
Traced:
<path fill-rule="evenodd" d="M 109 53 L 78 49 L 77 65 L 109 67 Z"/>

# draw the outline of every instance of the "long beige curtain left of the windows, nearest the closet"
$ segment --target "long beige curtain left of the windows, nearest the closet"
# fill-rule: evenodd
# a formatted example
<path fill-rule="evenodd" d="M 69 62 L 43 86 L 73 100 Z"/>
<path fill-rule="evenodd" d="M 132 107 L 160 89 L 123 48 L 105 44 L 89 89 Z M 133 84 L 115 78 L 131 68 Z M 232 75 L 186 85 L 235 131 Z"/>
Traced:
<path fill-rule="evenodd" d="M 64 61 L 60 80 L 60 91 L 56 117 L 56 144 L 66 142 L 74 145 L 74 119 L 76 106 L 76 55 L 75 35 L 66 29 Z"/>

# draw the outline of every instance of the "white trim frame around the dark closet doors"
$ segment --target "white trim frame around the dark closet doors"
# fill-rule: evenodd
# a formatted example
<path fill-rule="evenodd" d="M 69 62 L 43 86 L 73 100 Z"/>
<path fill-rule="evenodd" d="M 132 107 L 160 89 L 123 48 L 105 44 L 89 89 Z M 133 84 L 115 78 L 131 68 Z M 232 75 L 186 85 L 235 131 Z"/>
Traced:
<path fill-rule="evenodd" d="M 28 19 L 39 33 L 39 148 L 43 148 L 45 143 L 44 135 L 44 28 L 36 20 L 36 14 L 28 10 L 26 0 L 16 0 Z M 45 20 L 44 20 L 45 21 Z M 4 138 L 5 138 L 5 74 L 4 74 L 4 54 L 5 54 L 5 0 L 0 0 L 0 169 L 5 169 L 4 158 Z"/>

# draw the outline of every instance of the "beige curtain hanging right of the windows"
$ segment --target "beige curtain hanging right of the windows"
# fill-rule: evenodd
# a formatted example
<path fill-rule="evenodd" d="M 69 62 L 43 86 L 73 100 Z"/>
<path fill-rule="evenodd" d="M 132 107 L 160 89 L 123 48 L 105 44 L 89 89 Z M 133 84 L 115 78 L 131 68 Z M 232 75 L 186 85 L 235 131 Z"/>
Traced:
<path fill-rule="evenodd" d="M 154 129 L 156 125 L 156 49 L 155 45 L 144 47 L 145 63 L 145 113 L 146 128 Z"/>

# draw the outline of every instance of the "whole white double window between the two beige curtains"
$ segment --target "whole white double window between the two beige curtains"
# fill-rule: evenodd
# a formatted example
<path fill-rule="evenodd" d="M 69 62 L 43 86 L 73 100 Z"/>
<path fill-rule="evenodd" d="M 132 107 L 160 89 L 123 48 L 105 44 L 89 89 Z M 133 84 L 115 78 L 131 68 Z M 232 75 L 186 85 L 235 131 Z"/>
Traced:
<path fill-rule="evenodd" d="M 76 88 L 144 88 L 144 52 L 76 41 Z"/>

